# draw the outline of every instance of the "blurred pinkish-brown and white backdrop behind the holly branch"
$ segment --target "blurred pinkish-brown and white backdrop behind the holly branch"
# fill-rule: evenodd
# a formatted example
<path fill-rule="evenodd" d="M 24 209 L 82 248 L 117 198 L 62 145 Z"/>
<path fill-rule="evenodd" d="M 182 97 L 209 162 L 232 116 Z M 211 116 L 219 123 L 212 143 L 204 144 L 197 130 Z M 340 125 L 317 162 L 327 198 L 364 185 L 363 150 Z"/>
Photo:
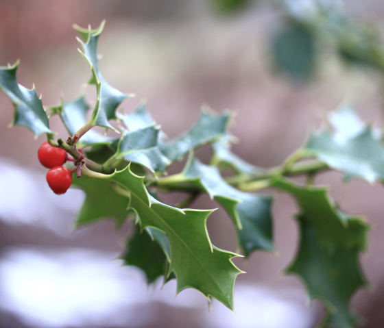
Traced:
<path fill-rule="evenodd" d="M 379 0 L 0 0 L 0 65 L 20 60 L 19 83 L 34 84 L 43 105 L 62 96 L 69 101 L 81 90 L 95 103 L 93 87 L 83 88 L 90 71 L 71 25 L 95 28 L 106 19 L 99 65 L 112 86 L 136 94 L 123 103 L 125 112 L 147 99 L 173 138 L 195 122 L 202 104 L 234 110 L 233 151 L 268 167 L 283 162 L 342 103 L 381 126 L 383 18 Z M 45 136 L 34 140 L 27 129 L 9 129 L 12 114 L 0 93 L 1 328 L 311 328 L 319 322 L 322 305 L 309 303 L 299 279 L 282 275 L 298 244 L 290 197 L 278 195 L 273 207 L 278 255 L 235 259 L 247 272 L 237 279 L 236 314 L 217 301 L 208 312 L 195 290 L 174 299 L 173 281 L 162 290 L 162 281 L 147 287 L 139 270 L 121 266 L 129 225 L 116 231 L 104 220 L 73 230 L 84 194 L 51 192 L 37 158 Z M 67 138 L 58 117 L 51 129 Z M 210 149 L 197 156 L 207 162 Z M 383 186 L 360 180 L 344 186 L 339 173 L 322 173 L 316 183 L 331 184 L 344 211 L 362 213 L 373 225 L 361 256 L 372 288 L 359 290 L 352 305 L 367 318 L 365 327 L 383 327 Z M 208 197 L 193 205 L 217 207 Z M 215 246 L 236 251 L 223 210 L 210 216 L 208 232 Z"/>

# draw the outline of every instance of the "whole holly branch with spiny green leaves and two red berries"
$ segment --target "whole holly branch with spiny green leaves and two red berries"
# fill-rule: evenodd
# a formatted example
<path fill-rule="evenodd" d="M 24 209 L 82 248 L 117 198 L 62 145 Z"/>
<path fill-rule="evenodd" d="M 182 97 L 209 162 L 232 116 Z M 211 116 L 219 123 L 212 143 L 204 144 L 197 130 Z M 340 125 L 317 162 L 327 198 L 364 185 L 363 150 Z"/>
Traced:
<path fill-rule="evenodd" d="M 86 194 L 76 226 L 113 218 L 121 227 L 125 220 L 134 220 L 134 233 L 121 257 L 126 265 L 141 268 L 148 283 L 160 276 L 165 283 L 176 279 L 177 293 L 195 288 L 208 301 L 215 298 L 233 310 L 235 280 L 243 272 L 232 258 L 240 255 L 211 243 L 206 220 L 213 210 L 189 205 L 204 193 L 219 203 L 235 226 L 239 253 L 247 258 L 254 251 L 275 251 L 274 197 L 256 191 L 285 192 L 300 208 L 296 217 L 300 247 L 285 272 L 300 277 L 311 299 L 324 303 L 322 326 L 356 327 L 359 317 L 349 303 L 356 290 L 367 285 L 359 255 L 366 249 L 369 225 L 361 216 L 343 212 L 328 188 L 314 186 L 313 178 L 335 169 L 344 173 L 346 182 L 352 178 L 383 181 L 384 146 L 377 131 L 352 109 L 341 108 L 328 116 L 327 127 L 313 131 L 304 147 L 274 168 L 256 167 L 232 153 L 230 112 L 217 114 L 202 108 L 189 131 L 169 140 L 145 103 L 129 114 L 117 112 L 131 94 L 110 86 L 99 71 L 97 42 L 103 28 L 104 23 L 97 29 L 75 26 L 82 37 L 80 52 L 91 68 L 88 84 L 97 90 L 93 109 L 84 96 L 44 108 L 34 89 L 17 83 L 19 63 L 0 69 L 0 88 L 14 104 L 12 125 L 27 127 L 35 136 L 47 135 L 38 157 L 50 168 L 47 181 L 53 192 L 62 194 L 72 185 Z M 67 140 L 55 139 L 49 127 L 54 115 L 67 128 Z M 111 121 L 117 121 L 118 128 Z M 117 130 L 119 137 L 98 134 L 93 130 L 97 126 Z M 194 154 L 204 144 L 213 150 L 208 165 Z M 167 175 L 169 165 L 184 157 L 187 164 L 182 171 Z M 224 170 L 232 175 L 224 177 Z M 291 179 L 298 175 L 307 176 L 307 184 Z M 173 191 L 185 195 L 178 205 L 157 197 L 157 192 Z"/>

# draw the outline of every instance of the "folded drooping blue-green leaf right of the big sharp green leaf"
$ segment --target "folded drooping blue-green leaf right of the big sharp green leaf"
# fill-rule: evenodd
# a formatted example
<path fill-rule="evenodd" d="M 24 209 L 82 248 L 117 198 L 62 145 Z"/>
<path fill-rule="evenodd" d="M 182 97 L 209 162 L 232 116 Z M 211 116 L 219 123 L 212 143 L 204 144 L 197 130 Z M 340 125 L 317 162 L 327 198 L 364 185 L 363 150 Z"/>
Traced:
<path fill-rule="evenodd" d="M 175 179 L 176 188 L 180 184 L 191 184 L 207 192 L 225 208 L 235 224 L 239 248 L 243 249 L 246 257 L 256 249 L 274 250 L 270 212 L 272 197 L 233 188 L 221 177 L 215 166 L 202 164 L 192 155 L 182 173 L 171 178 Z"/>

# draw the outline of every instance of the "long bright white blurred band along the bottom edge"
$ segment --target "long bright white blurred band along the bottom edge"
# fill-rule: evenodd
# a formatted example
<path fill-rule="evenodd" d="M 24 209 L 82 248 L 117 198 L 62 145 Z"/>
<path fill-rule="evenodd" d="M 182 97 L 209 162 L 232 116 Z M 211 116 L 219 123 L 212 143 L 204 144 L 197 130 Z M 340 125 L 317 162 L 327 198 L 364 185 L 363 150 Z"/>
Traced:
<path fill-rule="evenodd" d="M 195 290 L 175 299 L 176 281 L 147 287 L 133 267 L 121 267 L 115 254 L 84 249 L 47 251 L 14 248 L 0 260 L 0 308 L 27 327 L 156 327 L 154 303 L 195 308 L 200 327 L 309 328 L 314 312 L 304 292 L 237 283 L 235 312 L 207 301 Z M 285 297 L 284 297 L 285 296 Z"/>

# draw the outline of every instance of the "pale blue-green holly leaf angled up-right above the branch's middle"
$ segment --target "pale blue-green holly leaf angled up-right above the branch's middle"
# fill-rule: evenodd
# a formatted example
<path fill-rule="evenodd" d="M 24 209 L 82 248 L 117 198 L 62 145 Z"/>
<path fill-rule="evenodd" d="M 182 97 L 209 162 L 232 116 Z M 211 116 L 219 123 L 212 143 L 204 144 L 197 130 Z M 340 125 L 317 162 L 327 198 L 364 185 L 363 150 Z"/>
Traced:
<path fill-rule="evenodd" d="M 179 160 L 192 149 L 224 136 L 230 117 L 230 113 L 214 114 L 209 108 L 202 108 L 200 118 L 187 134 L 167 144 L 160 144 L 160 149 L 170 160 Z"/>

